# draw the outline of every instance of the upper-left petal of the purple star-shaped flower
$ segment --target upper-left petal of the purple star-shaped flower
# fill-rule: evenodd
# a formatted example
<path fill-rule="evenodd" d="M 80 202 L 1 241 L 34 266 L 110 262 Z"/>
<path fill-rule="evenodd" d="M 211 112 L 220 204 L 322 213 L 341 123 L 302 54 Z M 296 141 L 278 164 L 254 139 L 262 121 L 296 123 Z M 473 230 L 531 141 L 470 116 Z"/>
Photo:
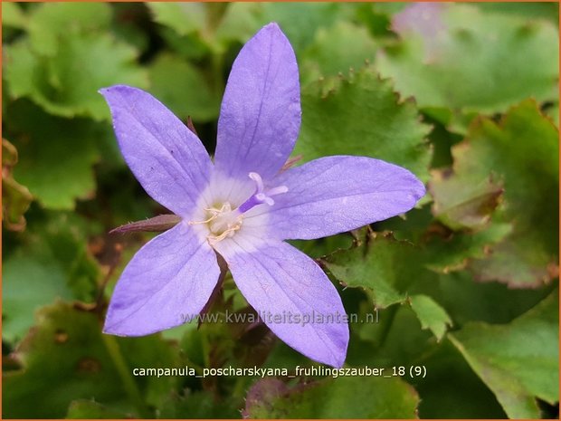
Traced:
<path fill-rule="evenodd" d="M 189 215 L 213 166 L 201 141 L 145 91 L 116 85 L 100 93 L 123 157 L 147 194 L 177 215 Z"/>

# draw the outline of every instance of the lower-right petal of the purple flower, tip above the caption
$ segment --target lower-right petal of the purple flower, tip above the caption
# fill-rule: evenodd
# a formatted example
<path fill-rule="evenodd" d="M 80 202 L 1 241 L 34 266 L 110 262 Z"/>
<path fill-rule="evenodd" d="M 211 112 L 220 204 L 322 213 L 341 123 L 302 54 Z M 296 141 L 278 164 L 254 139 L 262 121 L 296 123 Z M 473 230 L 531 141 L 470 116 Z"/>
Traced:
<path fill-rule="evenodd" d="M 290 244 L 261 244 L 243 251 L 235 238 L 215 247 L 261 320 L 310 359 L 341 367 L 347 354 L 347 313 L 318 264 Z"/>

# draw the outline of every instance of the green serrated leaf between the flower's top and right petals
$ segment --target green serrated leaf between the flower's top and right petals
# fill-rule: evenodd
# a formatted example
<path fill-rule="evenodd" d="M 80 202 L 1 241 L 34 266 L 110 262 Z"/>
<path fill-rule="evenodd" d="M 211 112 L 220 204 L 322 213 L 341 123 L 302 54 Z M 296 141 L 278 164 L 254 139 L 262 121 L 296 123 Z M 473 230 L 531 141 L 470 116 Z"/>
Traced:
<path fill-rule="evenodd" d="M 400 101 L 371 68 L 326 78 L 302 90 L 302 127 L 295 153 L 381 158 L 429 177 L 431 150 L 414 103 Z"/>

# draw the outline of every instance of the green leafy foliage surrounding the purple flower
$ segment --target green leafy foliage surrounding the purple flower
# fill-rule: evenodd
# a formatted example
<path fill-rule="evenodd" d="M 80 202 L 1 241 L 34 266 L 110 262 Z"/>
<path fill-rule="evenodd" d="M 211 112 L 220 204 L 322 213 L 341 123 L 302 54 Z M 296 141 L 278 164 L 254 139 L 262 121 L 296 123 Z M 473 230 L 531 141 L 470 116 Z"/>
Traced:
<path fill-rule="evenodd" d="M 3 2 L 2 14 L 4 417 L 558 416 L 556 4 Z M 212 153 L 231 63 L 271 21 L 300 64 L 295 153 L 383 158 L 428 183 L 405 217 L 294 242 L 347 311 L 379 311 L 351 326 L 347 367 L 426 378 L 134 378 L 314 363 L 262 327 L 100 333 L 148 239 L 109 230 L 166 210 L 125 166 L 97 91 L 147 89 Z M 245 306 L 227 279 L 213 311 Z"/>

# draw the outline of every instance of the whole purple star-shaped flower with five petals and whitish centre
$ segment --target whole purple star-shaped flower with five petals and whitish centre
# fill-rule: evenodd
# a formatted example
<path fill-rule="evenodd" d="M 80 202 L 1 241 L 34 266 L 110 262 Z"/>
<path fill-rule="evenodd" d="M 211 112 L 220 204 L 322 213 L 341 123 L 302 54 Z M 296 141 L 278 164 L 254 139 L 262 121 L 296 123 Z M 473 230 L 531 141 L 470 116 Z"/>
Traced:
<path fill-rule="evenodd" d="M 364 157 L 281 170 L 301 112 L 296 57 L 277 24 L 263 27 L 233 63 L 214 163 L 195 134 L 147 92 L 122 85 L 100 92 L 128 167 L 148 195 L 182 218 L 128 263 L 104 331 L 147 335 L 199 313 L 216 286 L 221 254 L 252 307 L 275 316 L 265 322 L 281 340 L 341 367 L 348 326 L 338 292 L 317 263 L 283 240 L 347 232 L 404 213 L 423 196 L 423 184 L 402 167 Z M 319 314 L 330 322 L 294 322 Z"/>

